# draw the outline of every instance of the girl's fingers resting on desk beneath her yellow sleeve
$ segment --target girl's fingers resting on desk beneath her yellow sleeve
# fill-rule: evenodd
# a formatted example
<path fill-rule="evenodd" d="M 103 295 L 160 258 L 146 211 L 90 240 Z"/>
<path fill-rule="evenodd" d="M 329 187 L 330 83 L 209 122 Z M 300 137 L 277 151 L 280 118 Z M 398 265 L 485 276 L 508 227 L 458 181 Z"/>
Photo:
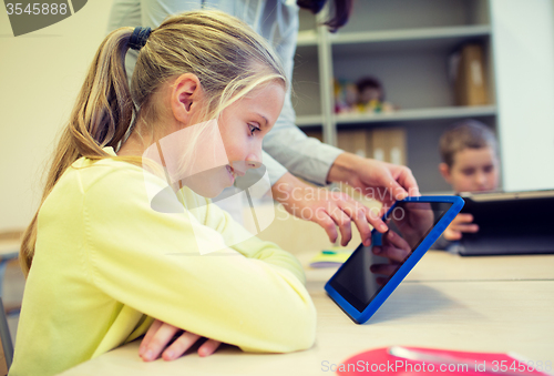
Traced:
<path fill-rule="evenodd" d="M 177 333 L 181 336 L 167 346 Z M 164 360 L 174 360 L 182 356 L 191 346 L 193 346 L 202 337 L 197 334 L 185 332 L 176 326 L 163 323 L 156 319 L 152 323 L 148 332 L 141 342 L 138 347 L 138 356 L 144 362 L 152 362 L 157 359 L 160 353 Z M 215 353 L 222 343 L 215 339 L 207 339 L 201 347 L 198 347 L 199 356 L 208 356 Z"/>

